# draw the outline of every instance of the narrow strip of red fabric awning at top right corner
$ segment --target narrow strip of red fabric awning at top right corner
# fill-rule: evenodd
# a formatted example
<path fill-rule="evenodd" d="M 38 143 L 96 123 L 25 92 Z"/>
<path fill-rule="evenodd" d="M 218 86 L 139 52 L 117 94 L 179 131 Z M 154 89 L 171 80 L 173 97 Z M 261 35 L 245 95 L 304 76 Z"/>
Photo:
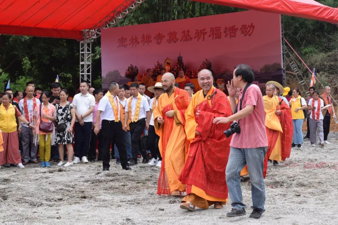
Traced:
<path fill-rule="evenodd" d="M 192 0 L 338 24 L 338 8 L 313 0 Z M 338 4 L 338 2 L 337 2 Z"/>

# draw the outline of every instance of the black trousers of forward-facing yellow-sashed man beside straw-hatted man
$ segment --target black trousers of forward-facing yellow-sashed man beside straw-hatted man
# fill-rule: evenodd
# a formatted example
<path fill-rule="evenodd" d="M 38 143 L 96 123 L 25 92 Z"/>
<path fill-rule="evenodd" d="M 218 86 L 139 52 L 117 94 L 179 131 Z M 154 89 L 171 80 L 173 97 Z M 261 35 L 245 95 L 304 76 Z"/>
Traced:
<path fill-rule="evenodd" d="M 139 146 L 141 146 L 141 134 L 142 134 L 145 126 L 146 126 L 146 120 L 145 119 L 139 119 L 136 122 L 129 123 L 130 136 L 131 136 L 132 158 L 134 160 L 137 160 L 137 154 L 139 153 L 139 150 L 140 150 L 143 158 L 148 157 L 147 151 L 143 151 L 143 149 L 139 149 Z M 119 148 L 119 146 L 117 146 L 117 148 Z"/>

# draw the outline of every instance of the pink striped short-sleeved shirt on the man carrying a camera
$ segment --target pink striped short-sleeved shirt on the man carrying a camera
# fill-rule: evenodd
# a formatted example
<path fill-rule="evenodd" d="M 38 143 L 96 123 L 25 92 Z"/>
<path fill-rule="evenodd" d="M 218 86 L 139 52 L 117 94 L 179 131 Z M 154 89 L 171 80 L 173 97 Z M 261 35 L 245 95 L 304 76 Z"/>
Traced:
<path fill-rule="evenodd" d="M 243 90 L 239 99 L 242 98 Z M 234 148 L 258 148 L 268 146 L 268 139 L 265 132 L 265 111 L 262 92 L 255 84 L 246 89 L 242 102 L 242 109 L 246 105 L 254 106 L 254 111 L 243 119 L 240 119 L 239 126 L 241 133 L 233 134 L 230 146 Z M 239 111 L 239 104 L 238 104 Z"/>

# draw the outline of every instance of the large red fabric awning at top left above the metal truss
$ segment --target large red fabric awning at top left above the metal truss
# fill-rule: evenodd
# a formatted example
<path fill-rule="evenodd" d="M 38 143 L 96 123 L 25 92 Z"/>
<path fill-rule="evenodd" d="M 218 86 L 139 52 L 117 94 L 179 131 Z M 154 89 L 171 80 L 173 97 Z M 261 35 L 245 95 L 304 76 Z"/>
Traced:
<path fill-rule="evenodd" d="M 136 0 L 0 0 L 0 33 L 82 40 Z M 113 16 L 114 18 L 114 16 Z M 110 19 L 111 20 L 111 19 Z M 99 24 L 101 25 L 101 24 Z"/>

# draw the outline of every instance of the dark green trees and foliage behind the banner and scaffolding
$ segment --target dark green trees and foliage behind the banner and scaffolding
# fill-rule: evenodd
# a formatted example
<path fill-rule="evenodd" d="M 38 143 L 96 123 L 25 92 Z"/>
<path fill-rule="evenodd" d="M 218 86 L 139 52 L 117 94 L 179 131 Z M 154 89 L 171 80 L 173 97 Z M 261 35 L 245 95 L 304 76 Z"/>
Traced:
<path fill-rule="evenodd" d="M 336 8 L 336 0 L 318 0 Z M 155 23 L 244 9 L 192 2 L 189 0 L 148 0 L 129 13 L 117 26 Z M 305 60 L 315 67 L 323 82 L 326 75 L 337 78 L 337 26 L 325 22 L 283 16 L 285 38 Z M 94 41 L 92 84 L 101 86 L 100 38 Z M 304 68 L 302 72 L 309 76 Z M 79 82 L 79 43 L 76 40 L 0 35 L 0 82 L 11 80 L 11 88 L 22 90 L 24 83 L 33 80 L 39 87 L 49 89 L 56 75 L 64 88 L 76 90 Z M 337 79 L 336 79 L 337 80 Z M 13 86 L 12 86 L 13 85 Z M 1 85 L 2 86 L 2 85 Z"/>

